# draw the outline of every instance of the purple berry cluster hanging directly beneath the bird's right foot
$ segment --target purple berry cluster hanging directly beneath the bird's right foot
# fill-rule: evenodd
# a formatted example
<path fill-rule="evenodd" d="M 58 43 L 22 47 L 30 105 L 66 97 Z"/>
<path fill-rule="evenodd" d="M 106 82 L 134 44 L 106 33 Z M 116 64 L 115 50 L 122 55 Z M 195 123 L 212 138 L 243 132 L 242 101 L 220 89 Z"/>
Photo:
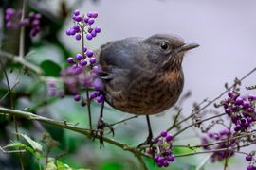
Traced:
<path fill-rule="evenodd" d="M 175 160 L 172 145 L 173 136 L 168 134 L 166 130 L 162 131 L 161 135 L 155 139 L 149 153 L 152 153 L 158 167 L 168 167 L 170 162 Z"/>

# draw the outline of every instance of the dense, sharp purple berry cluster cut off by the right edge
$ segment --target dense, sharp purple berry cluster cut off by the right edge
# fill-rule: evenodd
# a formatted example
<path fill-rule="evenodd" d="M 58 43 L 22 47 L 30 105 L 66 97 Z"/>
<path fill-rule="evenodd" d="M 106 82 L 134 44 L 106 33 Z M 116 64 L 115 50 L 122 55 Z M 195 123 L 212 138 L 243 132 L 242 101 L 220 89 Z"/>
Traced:
<path fill-rule="evenodd" d="M 256 95 L 241 97 L 238 92 L 229 92 L 228 98 L 222 102 L 225 112 L 235 125 L 234 131 L 245 132 L 256 121 Z"/>

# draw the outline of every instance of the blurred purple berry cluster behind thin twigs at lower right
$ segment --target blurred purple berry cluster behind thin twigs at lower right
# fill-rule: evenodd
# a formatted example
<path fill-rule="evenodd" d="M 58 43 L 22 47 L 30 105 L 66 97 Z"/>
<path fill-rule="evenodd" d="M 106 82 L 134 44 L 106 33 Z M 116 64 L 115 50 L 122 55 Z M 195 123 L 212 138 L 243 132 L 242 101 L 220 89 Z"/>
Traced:
<path fill-rule="evenodd" d="M 235 140 L 230 140 L 229 143 L 221 143 L 221 144 L 214 144 L 214 145 L 208 145 L 220 141 L 225 141 L 230 138 L 232 133 L 229 131 L 229 129 L 224 129 L 220 131 L 219 133 L 208 133 L 208 136 L 202 137 L 201 138 L 201 144 L 202 147 L 206 150 L 215 150 L 215 149 L 225 149 L 225 148 L 232 148 L 236 146 L 236 141 Z M 223 161 L 226 158 L 229 158 L 234 155 L 233 149 L 229 150 L 223 150 L 223 151 L 215 151 L 213 152 L 211 156 L 211 161 Z"/>

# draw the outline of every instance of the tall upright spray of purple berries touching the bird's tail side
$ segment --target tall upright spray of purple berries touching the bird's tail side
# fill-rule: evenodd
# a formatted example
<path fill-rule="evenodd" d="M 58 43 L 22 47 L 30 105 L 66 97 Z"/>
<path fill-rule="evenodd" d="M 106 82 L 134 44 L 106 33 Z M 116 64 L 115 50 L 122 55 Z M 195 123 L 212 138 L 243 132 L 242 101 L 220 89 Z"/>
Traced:
<path fill-rule="evenodd" d="M 98 61 L 94 57 L 94 51 L 84 46 L 85 37 L 90 41 L 101 32 L 100 27 L 92 27 L 97 17 L 97 12 L 88 12 L 85 17 L 79 10 L 75 10 L 72 16 L 74 26 L 66 30 L 67 36 L 75 36 L 77 41 L 82 42 L 82 50 L 74 57 L 66 59 L 69 67 L 61 72 L 61 76 L 67 91 L 74 94 L 74 101 L 81 102 L 82 106 L 87 105 L 87 98 L 82 96 L 81 90 L 87 88 L 95 90 L 89 94 L 88 100 L 96 100 L 99 103 L 104 100 L 103 94 L 101 94 L 103 85 L 99 78 L 101 66 L 98 65 Z"/>

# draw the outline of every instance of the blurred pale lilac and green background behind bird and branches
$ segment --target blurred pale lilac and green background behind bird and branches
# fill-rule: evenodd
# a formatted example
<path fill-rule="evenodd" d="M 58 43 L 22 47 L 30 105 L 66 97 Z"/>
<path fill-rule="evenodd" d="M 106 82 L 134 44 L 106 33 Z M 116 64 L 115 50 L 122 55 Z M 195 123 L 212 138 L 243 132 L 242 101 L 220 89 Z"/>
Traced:
<path fill-rule="evenodd" d="M 18 34 L 4 28 L 4 8 L 21 8 L 19 1 L 1 2 L 1 46 L 3 50 L 17 54 Z M 92 49 L 97 49 L 105 42 L 124 39 L 127 37 L 149 37 L 155 33 L 176 34 L 187 42 L 197 42 L 199 48 L 190 51 L 184 61 L 183 70 L 185 86 L 183 93 L 192 92 L 182 105 L 182 113 L 189 115 L 194 102 L 200 103 L 204 99 L 212 99 L 225 91 L 224 84 L 232 84 L 235 77 L 245 76 L 256 66 L 256 1 L 227 0 L 227 1 L 200 1 L 200 0 L 38 0 L 29 2 L 29 10 L 40 12 L 43 16 L 43 28 L 39 37 L 26 42 L 27 51 L 32 51 L 27 57 L 35 64 L 40 64 L 46 59 L 58 63 L 61 68 L 66 67 L 65 59 L 80 51 L 80 43 L 65 35 L 66 29 L 73 25 L 70 16 L 74 9 L 82 13 L 98 11 L 99 19 L 96 26 L 101 27 L 101 34 L 92 42 L 86 44 Z M 2 59 L 1 59 L 2 60 Z M 15 75 L 17 73 L 12 73 Z M 1 85 L 6 87 L 6 82 L 1 76 Z M 242 84 L 242 92 L 247 94 L 245 86 L 255 85 L 256 75 L 249 76 Z M 11 77 L 10 77 L 11 80 Z M 47 98 L 46 86 L 38 83 L 29 76 L 23 76 L 23 81 L 15 89 L 17 93 L 35 92 L 33 95 L 17 97 L 16 109 L 24 109 L 36 105 L 41 99 Z M 33 87 L 32 87 L 33 86 Z M 5 88 L 2 88 L 5 89 Z M 4 91 L 4 90 L 2 90 Z M 40 95 L 39 95 L 40 94 Z M 6 104 L 8 107 L 8 104 Z M 93 123 L 96 125 L 100 107 L 93 104 Z M 87 115 L 85 110 L 73 102 L 72 96 L 66 96 L 61 100 L 54 100 L 46 106 L 37 108 L 36 112 L 58 120 L 67 120 L 71 123 L 79 123 L 80 127 L 87 127 Z M 152 127 L 155 136 L 162 129 L 172 125 L 175 110 L 152 116 Z M 113 123 L 124 117 L 126 113 L 106 107 L 105 119 Z M 9 125 L 2 120 L 1 138 L 11 136 Z M 22 120 L 22 122 L 26 122 Z M 37 123 L 29 123 L 37 124 Z M 30 125 L 31 127 L 33 125 Z M 40 125 L 41 126 L 41 125 Z M 39 127 L 40 127 L 39 126 Z M 36 126 L 38 128 L 38 126 Z M 85 167 L 90 169 L 140 169 L 137 160 L 128 152 L 124 152 L 115 146 L 105 144 L 99 148 L 99 143 L 92 142 L 82 135 L 71 131 L 47 127 L 52 137 L 61 143 L 60 150 L 67 152 L 62 161 L 73 167 Z M 24 131 L 32 129 L 24 128 Z M 34 138 L 40 138 L 38 129 Z M 147 136 L 146 121 L 144 117 L 131 120 L 126 124 L 120 124 L 115 129 L 115 139 L 126 144 L 137 145 Z M 8 140 L 0 138 L 0 144 L 4 145 Z M 8 139 L 8 138 L 7 138 Z M 198 144 L 200 139 L 193 131 L 182 134 L 175 144 Z M 176 151 L 181 152 L 179 150 Z M 15 162 L 10 155 L 0 152 L 0 168 L 15 169 Z M 198 163 L 204 160 L 206 155 L 198 155 L 186 158 L 177 158 L 166 169 L 194 169 Z M 241 161 L 242 160 L 242 161 Z M 150 169 L 158 169 L 151 160 L 146 160 Z M 232 158 L 229 169 L 245 169 L 244 156 L 237 155 Z M 207 164 L 206 169 L 222 168 L 222 163 Z M 33 169 L 33 164 L 27 165 Z M 1 168 L 2 169 L 2 168 Z M 17 168 L 18 169 L 18 168 Z"/>

